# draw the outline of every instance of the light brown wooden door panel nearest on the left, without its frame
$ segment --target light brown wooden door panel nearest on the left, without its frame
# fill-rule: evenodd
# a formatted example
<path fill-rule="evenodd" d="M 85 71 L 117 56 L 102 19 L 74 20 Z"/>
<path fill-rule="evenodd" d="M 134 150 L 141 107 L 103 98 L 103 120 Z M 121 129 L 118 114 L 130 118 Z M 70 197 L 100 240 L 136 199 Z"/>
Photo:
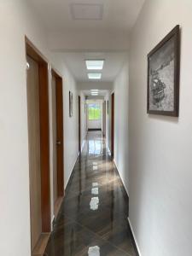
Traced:
<path fill-rule="evenodd" d="M 42 233 L 38 62 L 27 56 L 27 107 L 32 249 Z"/>

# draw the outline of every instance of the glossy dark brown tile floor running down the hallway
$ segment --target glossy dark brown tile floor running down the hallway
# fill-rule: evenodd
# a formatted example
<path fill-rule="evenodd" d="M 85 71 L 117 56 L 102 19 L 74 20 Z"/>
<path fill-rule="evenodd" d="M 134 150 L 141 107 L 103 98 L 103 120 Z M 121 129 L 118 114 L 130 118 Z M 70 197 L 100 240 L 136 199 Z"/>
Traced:
<path fill-rule="evenodd" d="M 90 131 L 67 186 L 46 256 L 136 256 L 128 197 L 100 131 Z"/>

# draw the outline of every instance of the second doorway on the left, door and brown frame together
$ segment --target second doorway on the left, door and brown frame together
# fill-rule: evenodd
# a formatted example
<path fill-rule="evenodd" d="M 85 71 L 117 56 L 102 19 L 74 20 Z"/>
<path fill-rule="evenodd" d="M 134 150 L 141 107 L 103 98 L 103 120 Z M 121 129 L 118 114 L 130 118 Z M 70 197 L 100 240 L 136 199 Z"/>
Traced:
<path fill-rule="evenodd" d="M 53 120 L 53 194 L 55 218 L 61 207 L 64 195 L 63 170 L 63 92 L 62 78 L 51 70 L 52 79 L 52 120 Z"/>

